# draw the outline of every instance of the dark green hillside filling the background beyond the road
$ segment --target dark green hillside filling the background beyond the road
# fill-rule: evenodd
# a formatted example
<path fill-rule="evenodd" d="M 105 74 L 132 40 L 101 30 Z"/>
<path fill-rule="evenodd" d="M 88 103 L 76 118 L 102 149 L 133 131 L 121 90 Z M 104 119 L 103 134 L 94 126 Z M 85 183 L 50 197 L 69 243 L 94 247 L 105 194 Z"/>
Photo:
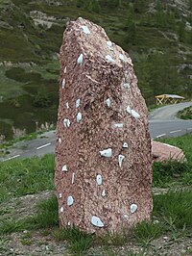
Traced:
<path fill-rule="evenodd" d="M 0 140 L 56 123 L 58 53 L 78 16 L 129 52 L 148 104 L 164 92 L 191 97 L 191 0 L 1 0 Z"/>

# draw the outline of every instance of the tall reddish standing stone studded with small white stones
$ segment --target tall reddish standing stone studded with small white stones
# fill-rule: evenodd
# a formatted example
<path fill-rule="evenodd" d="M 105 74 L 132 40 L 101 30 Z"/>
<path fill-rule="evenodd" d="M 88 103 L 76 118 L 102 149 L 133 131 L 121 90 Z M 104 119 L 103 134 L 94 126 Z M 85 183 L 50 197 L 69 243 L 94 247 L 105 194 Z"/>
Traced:
<path fill-rule="evenodd" d="M 151 162 L 147 108 L 131 58 L 100 26 L 70 22 L 60 47 L 60 224 L 103 233 L 150 218 Z"/>

